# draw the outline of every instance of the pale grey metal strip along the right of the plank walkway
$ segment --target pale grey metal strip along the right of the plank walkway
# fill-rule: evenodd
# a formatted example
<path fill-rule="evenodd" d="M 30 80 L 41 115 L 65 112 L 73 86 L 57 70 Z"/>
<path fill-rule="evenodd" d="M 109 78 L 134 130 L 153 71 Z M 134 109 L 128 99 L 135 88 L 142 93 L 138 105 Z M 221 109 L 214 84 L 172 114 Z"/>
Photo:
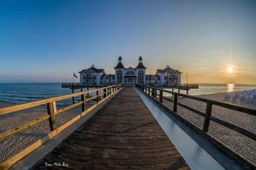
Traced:
<path fill-rule="evenodd" d="M 188 136 L 172 119 L 163 113 L 145 94 L 135 88 L 142 101 L 157 122 L 163 128 L 170 140 L 173 141 L 183 158 L 191 169 L 195 170 L 221 170 L 225 169 L 212 158 L 200 145 Z"/>

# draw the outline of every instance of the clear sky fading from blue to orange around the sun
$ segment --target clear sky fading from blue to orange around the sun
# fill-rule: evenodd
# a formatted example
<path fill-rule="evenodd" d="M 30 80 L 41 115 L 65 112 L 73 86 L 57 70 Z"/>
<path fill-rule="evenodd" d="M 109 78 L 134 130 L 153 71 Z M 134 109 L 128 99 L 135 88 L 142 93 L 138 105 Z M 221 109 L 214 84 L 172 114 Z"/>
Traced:
<path fill-rule="evenodd" d="M 168 64 L 190 83 L 256 84 L 255 17 L 256 1 L 0 1 L 0 83 L 71 82 L 141 54 L 147 74 Z"/>

